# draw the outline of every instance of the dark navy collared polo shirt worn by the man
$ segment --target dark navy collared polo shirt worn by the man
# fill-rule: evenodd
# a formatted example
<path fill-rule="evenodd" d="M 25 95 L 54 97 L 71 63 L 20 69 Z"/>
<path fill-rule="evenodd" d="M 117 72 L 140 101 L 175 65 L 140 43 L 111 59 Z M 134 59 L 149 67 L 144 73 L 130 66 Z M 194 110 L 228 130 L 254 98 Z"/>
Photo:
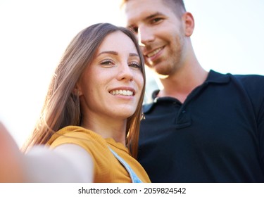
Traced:
<path fill-rule="evenodd" d="M 151 182 L 264 182 L 264 77 L 208 79 L 181 103 L 144 106 L 139 163 Z"/>

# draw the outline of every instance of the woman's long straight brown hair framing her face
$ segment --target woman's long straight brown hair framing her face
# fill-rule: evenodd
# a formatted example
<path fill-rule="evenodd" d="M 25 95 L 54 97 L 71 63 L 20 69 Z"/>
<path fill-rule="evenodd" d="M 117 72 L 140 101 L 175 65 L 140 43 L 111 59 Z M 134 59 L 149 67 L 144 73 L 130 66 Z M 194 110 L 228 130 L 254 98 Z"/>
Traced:
<path fill-rule="evenodd" d="M 134 33 L 125 27 L 117 27 L 109 23 L 91 25 L 79 32 L 70 42 L 49 84 L 39 121 L 33 129 L 32 135 L 23 145 L 23 151 L 27 151 L 33 145 L 46 144 L 54 132 L 63 127 L 68 125 L 80 126 L 82 120 L 80 100 L 79 96 L 74 94 L 73 89 L 84 69 L 92 63 L 103 39 L 111 32 L 116 31 L 121 31 L 132 39 L 142 65 L 144 87 L 135 113 L 127 120 L 126 129 L 127 147 L 132 156 L 137 157 L 139 122 L 142 117 L 142 103 L 146 84 L 144 58 Z"/>

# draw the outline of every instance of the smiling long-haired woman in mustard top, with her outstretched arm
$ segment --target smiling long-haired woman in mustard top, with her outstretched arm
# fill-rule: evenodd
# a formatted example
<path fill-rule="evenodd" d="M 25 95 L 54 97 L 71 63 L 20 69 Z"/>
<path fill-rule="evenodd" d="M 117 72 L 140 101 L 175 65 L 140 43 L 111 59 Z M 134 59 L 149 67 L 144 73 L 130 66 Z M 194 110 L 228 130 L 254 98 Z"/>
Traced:
<path fill-rule="evenodd" d="M 1 182 L 150 182 L 134 159 L 144 89 L 130 30 L 108 23 L 82 30 L 56 68 L 25 155 L 1 126 L 0 139 L 11 141 L 0 146 L 7 158 L 0 172 L 9 169 Z"/>

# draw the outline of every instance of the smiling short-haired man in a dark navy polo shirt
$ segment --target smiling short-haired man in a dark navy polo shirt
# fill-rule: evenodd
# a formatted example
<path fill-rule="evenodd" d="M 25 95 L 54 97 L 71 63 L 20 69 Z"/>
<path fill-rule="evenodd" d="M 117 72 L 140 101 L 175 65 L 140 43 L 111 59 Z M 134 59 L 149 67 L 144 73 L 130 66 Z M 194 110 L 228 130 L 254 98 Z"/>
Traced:
<path fill-rule="evenodd" d="M 127 27 L 163 89 L 144 106 L 138 160 L 151 182 L 264 182 L 264 77 L 204 70 L 180 0 L 128 0 Z"/>

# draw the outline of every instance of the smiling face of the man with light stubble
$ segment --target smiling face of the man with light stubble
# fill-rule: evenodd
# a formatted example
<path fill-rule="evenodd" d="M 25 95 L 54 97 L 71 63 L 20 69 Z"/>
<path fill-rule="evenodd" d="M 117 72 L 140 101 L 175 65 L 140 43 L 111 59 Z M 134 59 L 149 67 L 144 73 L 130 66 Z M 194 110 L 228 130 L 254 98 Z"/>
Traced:
<path fill-rule="evenodd" d="M 124 9 L 127 27 L 137 33 L 146 65 L 159 75 L 172 75 L 182 61 L 182 20 L 163 0 L 130 0 Z"/>

